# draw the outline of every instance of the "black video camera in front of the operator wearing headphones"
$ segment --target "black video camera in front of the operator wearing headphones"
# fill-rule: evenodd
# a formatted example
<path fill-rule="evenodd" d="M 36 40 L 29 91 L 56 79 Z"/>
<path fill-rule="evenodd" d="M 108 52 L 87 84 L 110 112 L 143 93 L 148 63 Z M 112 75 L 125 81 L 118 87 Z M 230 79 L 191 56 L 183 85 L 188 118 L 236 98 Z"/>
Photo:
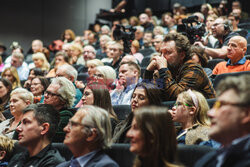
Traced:
<path fill-rule="evenodd" d="M 195 23 L 195 24 L 194 24 Z M 190 43 L 200 41 L 205 34 L 205 24 L 198 21 L 197 16 L 189 16 L 186 19 L 182 19 L 182 24 L 177 26 L 177 32 L 187 36 Z"/>

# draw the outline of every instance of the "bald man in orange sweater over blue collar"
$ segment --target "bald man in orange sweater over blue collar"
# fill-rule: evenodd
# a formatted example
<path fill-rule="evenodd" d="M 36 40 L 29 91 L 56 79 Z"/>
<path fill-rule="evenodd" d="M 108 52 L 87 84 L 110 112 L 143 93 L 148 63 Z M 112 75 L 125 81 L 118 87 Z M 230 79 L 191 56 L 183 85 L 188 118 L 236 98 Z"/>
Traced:
<path fill-rule="evenodd" d="M 227 62 L 217 64 L 213 70 L 214 75 L 250 71 L 250 60 L 244 57 L 247 51 L 247 41 L 241 36 L 232 37 L 227 44 Z"/>

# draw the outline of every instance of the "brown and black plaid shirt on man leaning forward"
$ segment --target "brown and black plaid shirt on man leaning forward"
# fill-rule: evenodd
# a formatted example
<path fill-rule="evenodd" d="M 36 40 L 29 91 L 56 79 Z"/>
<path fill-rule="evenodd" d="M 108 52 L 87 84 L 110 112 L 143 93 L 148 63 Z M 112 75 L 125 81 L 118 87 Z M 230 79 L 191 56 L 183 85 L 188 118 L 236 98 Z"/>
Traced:
<path fill-rule="evenodd" d="M 159 70 L 159 78 L 155 81 L 160 88 L 163 88 L 165 99 L 176 100 L 178 94 L 188 89 L 201 92 L 207 99 L 215 98 L 215 90 L 211 81 L 201 66 L 194 64 L 192 60 L 186 61 L 173 76 L 168 68 Z M 153 71 L 145 71 L 144 79 L 151 80 Z"/>

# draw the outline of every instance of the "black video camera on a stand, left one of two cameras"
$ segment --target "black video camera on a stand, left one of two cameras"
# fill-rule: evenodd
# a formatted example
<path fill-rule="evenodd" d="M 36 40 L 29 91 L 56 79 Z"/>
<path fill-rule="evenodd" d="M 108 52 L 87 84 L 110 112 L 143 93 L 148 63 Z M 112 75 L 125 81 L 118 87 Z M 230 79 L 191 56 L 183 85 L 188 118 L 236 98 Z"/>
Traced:
<path fill-rule="evenodd" d="M 124 52 L 130 53 L 131 42 L 135 39 L 136 28 L 132 26 L 123 26 L 117 24 L 114 31 L 113 37 L 115 40 L 123 40 Z"/>

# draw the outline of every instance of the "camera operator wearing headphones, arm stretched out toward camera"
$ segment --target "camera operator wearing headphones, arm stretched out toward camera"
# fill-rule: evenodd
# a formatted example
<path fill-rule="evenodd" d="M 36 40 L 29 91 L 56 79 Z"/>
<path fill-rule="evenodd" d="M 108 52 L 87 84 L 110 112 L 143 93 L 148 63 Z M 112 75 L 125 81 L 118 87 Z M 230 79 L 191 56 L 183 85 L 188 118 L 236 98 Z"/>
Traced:
<path fill-rule="evenodd" d="M 202 42 L 195 42 L 194 45 L 200 46 L 204 49 L 205 54 L 212 58 L 225 59 L 227 56 L 227 43 L 233 36 L 239 35 L 232 32 L 232 23 L 230 20 L 217 18 L 212 25 L 212 33 L 215 38 L 219 40 L 219 48 L 208 48 Z"/>

